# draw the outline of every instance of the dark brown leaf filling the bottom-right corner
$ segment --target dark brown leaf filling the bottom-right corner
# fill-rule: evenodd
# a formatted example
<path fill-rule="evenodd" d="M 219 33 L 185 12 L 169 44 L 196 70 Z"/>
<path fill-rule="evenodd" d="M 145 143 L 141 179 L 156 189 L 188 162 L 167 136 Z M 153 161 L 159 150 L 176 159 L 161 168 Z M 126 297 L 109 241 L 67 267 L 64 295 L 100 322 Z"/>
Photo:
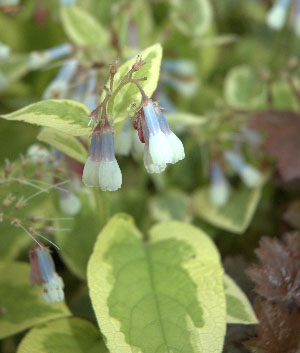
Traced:
<path fill-rule="evenodd" d="M 299 308 L 289 312 L 283 304 L 257 300 L 255 312 L 259 320 L 257 337 L 246 344 L 252 352 L 299 353 Z"/>

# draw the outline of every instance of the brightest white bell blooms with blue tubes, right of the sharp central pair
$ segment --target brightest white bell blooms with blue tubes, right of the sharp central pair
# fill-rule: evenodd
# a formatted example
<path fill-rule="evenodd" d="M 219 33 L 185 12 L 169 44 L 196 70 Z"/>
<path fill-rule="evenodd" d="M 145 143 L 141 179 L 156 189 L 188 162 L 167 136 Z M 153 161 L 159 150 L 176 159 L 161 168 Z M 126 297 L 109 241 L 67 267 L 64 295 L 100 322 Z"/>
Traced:
<path fill-rule="evenodd" d="M 150 99 L 143 100 L 142 131 L 145 140 L 144 163 L 149 173 L 161 173 L 167 163 L 184 158 L 182 142 L 170 130 L 158 107 Z"/>

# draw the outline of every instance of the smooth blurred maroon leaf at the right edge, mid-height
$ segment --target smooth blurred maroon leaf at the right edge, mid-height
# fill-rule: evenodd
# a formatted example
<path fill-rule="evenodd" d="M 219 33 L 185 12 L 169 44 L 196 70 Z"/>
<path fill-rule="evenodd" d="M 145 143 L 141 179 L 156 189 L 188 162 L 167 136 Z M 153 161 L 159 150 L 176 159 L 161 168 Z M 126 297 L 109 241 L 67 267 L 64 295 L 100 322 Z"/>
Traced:
<path fill-rule="evenodd" d="M 285 182 L 300 178 L 300 115 L 266 111 L 251 119 L 250 128 L 266 132 L 264 147 L 274 157 Z"/>

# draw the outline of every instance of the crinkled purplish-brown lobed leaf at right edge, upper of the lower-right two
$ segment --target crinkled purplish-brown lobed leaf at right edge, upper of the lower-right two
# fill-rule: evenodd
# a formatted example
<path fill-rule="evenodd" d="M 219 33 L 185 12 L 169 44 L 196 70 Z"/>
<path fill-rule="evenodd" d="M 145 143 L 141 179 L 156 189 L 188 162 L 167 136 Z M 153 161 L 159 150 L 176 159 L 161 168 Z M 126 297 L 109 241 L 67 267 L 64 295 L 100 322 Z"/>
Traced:
<path fill-rule="evenodd" d="M 264 237 L 256 255 L 262 266 L 253 266 L 248 274 L 263 297 L 300 306 L 300 238 L 298 233 L 278 239 Z"/>

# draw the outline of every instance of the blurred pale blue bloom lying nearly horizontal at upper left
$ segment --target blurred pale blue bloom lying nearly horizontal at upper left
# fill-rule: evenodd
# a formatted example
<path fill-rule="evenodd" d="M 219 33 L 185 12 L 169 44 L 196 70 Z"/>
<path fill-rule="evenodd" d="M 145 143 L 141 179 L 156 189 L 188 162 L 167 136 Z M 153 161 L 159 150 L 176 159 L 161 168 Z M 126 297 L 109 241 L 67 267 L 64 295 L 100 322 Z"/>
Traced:
<path fill-rule="evenodd" d="M 63 56 L 70 54 L 73 47 L 69 43 L 49 48 L 42 51 L 33 51 L 29 54 L 28 65 L 31 70 L 38 70 L 51 62 Z"/>

